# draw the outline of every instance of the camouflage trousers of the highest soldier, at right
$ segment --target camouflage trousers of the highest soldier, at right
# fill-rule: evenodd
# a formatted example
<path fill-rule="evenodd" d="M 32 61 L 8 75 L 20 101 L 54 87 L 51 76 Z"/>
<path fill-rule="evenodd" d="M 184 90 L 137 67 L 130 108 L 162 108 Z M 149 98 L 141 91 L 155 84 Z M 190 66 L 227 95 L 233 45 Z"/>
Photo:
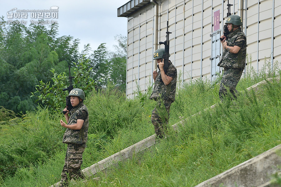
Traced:
<path fill-rule="evenodd" d="M 242 69 L 224 68 L 224 75 L 219 87 L 219 98 L 221 101 L 227 95 L 228 90 L 232 94 L 232 99 L 237 98 L 238 91 L 236 90 L 236 86 L 241 78 L 242 72 Z"/>

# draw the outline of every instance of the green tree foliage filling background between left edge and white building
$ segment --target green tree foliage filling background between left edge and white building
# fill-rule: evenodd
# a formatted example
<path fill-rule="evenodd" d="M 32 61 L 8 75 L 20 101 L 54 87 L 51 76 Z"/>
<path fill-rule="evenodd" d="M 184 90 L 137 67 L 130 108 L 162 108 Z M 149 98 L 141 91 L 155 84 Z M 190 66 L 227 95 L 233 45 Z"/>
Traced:
<path fill-rule="evenodd" d="M 0 106 L 16 114 L 25 114 L 36 108 L 36 98 L 30 97 L 31 92 L 37 91 L 35 86 L 49 82 L 51 88 L 54 75 L 57 75 L 56 78 L 58 75 L 64 77 L 62 72 L 66 72 L 68 66 L 77 68 L 80 64 L 78 61 L 82 59 L 84 62 L 86 57 L 89 66 L 87 76 L 98 82 L 96 89 L 105 88 L 107 82 L 111 81 L 118 90 L 125 90 L 126 37 L 117 35 L 116 41 L 116 52 L 109 52 L 105 43 L 102 43 L 92 54 L 90 44 L 79 53 L 79 39 L 71 36 L 58 37 L 57 24 L 8 25 L 3 17 L 0 18 L 0 98 L 7 101 Z M 76 76 L 76 81 L 82 86 L 85 82 L 81 79 L 86 74 L 83 72 L 80 75 Z M 42 100 L 38 100 L 39 104 L 43 106 L 50 105 L 40 101 Z"/>

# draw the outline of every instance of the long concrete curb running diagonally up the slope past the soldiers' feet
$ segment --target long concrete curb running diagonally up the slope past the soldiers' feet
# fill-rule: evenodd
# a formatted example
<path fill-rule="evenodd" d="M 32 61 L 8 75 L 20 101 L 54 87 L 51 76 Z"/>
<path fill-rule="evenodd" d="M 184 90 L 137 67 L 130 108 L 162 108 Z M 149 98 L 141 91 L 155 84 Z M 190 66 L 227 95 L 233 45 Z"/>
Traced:
<path fill-rule="evenodd" d="M 267 79 L 268 81 L 272 81 L 273 78 L 269 78 Z M 258 86 L 261 85 L 261 84 L 265 84 L 266 81 L 261 81 L 257 84 L 254 84 L 253 86 L 250 86 L 249 88 L 247 88 L 247 90 L 251 90 L 253 89 L 254 91 L 257 91 L 258 90 Z M 208 109 L 212 109 L 214 107 L 216 107 L 217 104 L 214 104 L 208 108 L 206 108 L 205 110 L 208 110 Z M 204 110 L 204 111 L 205 111 Z M 195 116 L 195 115 L 198 115 L 200 114 L 201 112 L 198 112 L 192 116 Z M 189 118 L 189 117 L 188 117 Z M 176 123 L 175 125 L 172 125 L 172 128 L 174 130 L 179 130 L 179 125 L 184 125 L 185 121 L 188 120 L 188 118 L 184 119 L 184 120 L 181 120 L 179 121 L 178 123 Z M 93 164 L 87 168 L 85 168 L 84 170 L 82 170 L 83 174 L 86 175 L 86 176 L 91 176 L 91 175 L 95 175 L 97 172 L 100 172 L 100 171 L 105 171 L 108 167 L 116 164 L 116 162 L 118 161 L 122 161 L 122 160 L 125 160 L 125 159 L 128 159 L 130 158 L 133 154 L 137 154 L 138 152 L 141 152 L 143 150 L 145 150 L 146 148 L 149 148 L 150 146 L 154 145 L 155 144 L 155 134 L 154 135 L 151 135 L 150 137 L 148 138 L 145 138 L 144 140 L 141 140 L 139 142 L 137 142 L 136 144 L 134 145 L 131 145 L 130 147 L 127 147 L 126 149 L 124 150 L 121 150 L 119 151 L 118 153 L 115 153 L 114 155 L 111 155 L 99 162 L 97 162 L 96 164 Z M 50 187 L 58 187 L 60 184 L 60 182 L 57 182 L 56 184 L 50 186 Z"/>

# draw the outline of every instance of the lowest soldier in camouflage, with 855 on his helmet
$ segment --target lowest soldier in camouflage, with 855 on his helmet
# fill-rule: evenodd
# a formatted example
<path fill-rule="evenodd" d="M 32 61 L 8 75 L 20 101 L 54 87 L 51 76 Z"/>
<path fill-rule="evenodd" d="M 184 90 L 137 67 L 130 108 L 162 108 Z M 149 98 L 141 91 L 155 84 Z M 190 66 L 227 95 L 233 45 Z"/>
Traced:
<path fill-rule="evenodd" d="M 64 115 L 67 124 L 62 120 L 60 121 L 61 125 L 67 128 L 62 140 L 63 143 L 67 144 L 67 152 L 60 186 L 68 186 L 71 179 L 84 179 L 81 164 L 89 128 L 89 113 L 83 103 L 83 100 L 85 100 L 84 91 L 74 88 L 68 96 L 73 108 L 71 111 L 68 111 L 67 108 L 64 109 L 64 111 L 67 111 Z"/>

